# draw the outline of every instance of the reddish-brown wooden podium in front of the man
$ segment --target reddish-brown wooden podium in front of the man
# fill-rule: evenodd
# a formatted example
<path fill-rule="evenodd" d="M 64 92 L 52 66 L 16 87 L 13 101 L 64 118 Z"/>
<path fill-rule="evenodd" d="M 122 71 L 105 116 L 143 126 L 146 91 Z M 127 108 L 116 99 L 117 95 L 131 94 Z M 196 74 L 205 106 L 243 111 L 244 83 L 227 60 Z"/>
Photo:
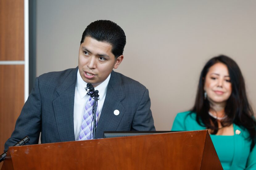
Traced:
<path fill-rule="evenodd" d="M 6 169 L 222 169 L 207 130 L 10 147 Z"/>

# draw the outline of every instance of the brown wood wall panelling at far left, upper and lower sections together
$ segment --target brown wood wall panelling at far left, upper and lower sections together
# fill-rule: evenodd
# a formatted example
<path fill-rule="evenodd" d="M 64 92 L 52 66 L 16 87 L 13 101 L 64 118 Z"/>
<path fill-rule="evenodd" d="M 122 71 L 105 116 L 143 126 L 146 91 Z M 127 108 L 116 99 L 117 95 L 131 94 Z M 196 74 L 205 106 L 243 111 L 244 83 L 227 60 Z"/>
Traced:
<path fill-rule="evenodd" d="M 0 0 L 0 62 L 15 60 L 24 61 L 24 0 Z M 0 154 L 23 104 L 24 65 L 0 65 Z"/>

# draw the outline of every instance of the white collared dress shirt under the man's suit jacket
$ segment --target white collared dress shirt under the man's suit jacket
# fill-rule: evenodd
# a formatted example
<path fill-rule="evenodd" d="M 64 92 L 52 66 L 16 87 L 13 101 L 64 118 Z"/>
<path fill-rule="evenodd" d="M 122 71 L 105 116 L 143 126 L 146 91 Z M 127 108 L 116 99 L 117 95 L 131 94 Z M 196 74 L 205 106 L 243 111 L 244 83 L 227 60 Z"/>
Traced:
<path fill-rule="evenodd" d="M 99 111 L 98 120 L 100 118 L 103 103 L 105 101 L 110 75 L 111 74 L 109 74 L 108 78 L 105 79 L 104 82 L 102 82 L 94 88 L 95 90 L 99 91 L 99 100 L 97 107 L 97 110 Z M 84 116 L 85 105 L 87 100 L 89 99 L 89 95 L 87 95 L 88 91 L 85 90 L 86 85 L 87 83 L 82 79 L 78 70 L 74 99 L 74 133 L 76 141 L 79 139 L 79 133 L 82 125 L 82 119 Z"/>

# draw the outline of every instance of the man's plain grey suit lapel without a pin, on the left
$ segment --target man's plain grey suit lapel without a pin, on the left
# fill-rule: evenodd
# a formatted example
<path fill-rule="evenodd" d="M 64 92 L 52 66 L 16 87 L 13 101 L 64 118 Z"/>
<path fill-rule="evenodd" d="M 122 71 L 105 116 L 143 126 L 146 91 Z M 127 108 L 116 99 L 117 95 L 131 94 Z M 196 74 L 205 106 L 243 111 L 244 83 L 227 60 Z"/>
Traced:
<path fill-rule="evenodd" d="M 74 96 L 77 69 L 73 69 L 63 83 L 57 87 L 58 97 L 53 100 L 53 108 L 60 140 L 74 141 Z"/>

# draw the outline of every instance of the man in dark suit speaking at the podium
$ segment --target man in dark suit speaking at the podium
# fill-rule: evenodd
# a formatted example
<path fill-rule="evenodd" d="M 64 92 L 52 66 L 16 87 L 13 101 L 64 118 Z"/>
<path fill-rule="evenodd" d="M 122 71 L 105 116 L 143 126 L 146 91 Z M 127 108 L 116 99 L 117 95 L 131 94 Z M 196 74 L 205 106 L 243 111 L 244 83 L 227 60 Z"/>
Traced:
<path fill-rule="evenodd" d="M 5 151 L 26 135 L 28 144 L 37 144 L 40 132 L 42 143 L 84 140 L 87 83 L 99 91 L 95 138 L 102 138 L 104 131 L 155 130 L 147 88 L 113 71 L 123 60 L 125 44 L 125 33 L 116 23 L 98 20 L 88 25 L 78 67 L 36 78 Z"/>

